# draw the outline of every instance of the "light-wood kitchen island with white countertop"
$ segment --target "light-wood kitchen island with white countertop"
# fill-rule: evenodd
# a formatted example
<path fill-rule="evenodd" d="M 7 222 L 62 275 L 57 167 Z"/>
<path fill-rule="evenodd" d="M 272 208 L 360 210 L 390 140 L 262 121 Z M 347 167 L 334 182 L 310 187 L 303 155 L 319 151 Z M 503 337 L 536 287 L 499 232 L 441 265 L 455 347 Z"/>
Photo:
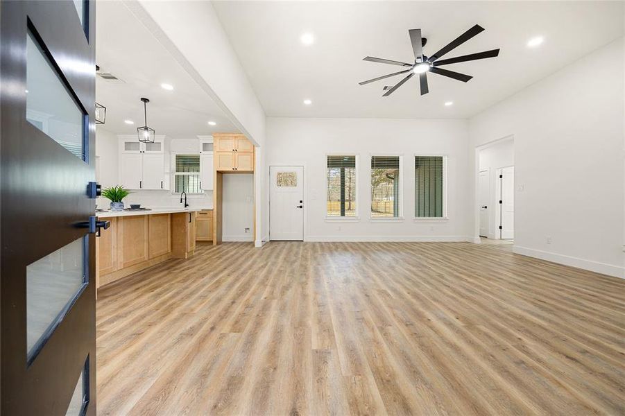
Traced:
<path fill-rule="evenodd" d="M 196 247 L 196 211 L 150 210 L 96 212 L 110 221 L 96 238 L 96 288 L 169 259 L 187 259 Z"/>

